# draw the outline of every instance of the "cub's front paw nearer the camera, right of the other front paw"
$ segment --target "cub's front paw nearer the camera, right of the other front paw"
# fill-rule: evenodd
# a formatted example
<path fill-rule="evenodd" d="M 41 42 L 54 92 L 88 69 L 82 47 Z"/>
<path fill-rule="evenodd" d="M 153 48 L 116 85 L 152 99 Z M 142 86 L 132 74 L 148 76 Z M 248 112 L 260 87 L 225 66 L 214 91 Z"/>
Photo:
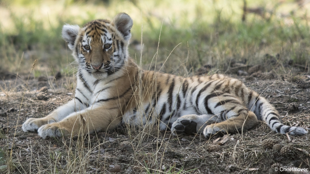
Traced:
<path fill-rule="evenodd" d="M 46 124 L 38 129 L 38 135 L 43 139 L 47 137 L 62 137 L 67 136 L 68 131 L 66 131 L 63 128 L 60 128 L 56 124 Z"/>

